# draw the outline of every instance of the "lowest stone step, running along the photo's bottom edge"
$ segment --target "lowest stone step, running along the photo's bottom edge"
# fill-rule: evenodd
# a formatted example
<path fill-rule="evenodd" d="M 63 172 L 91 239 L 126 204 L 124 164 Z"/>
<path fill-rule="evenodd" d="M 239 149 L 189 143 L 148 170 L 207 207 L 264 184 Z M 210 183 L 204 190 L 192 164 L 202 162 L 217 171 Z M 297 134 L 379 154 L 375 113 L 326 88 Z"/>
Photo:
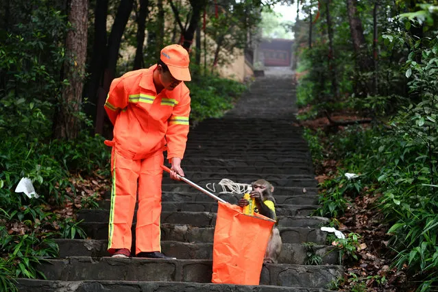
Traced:
<path fill-rule="evenodd" d="M 289 287 L 271 285 L 234 285 L 212 283 L 184 283 L 184 282 L 147 282 L 124 280 L 97 280 L 97 281 L 52 281 L 36 279 L 16 279 L 16 287 L 20 292 L 291 292 Z M 329 292 L 326 289 L 294 287 L 294 292 Z"/>

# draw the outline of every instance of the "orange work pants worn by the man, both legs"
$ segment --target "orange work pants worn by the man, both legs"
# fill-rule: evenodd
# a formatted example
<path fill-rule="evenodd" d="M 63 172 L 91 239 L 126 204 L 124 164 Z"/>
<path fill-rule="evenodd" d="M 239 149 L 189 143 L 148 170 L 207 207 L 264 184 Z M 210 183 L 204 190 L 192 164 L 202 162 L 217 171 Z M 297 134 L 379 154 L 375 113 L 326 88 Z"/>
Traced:
<path fill-rule="evenodd" d="M 111 153 L 111 210 L 108 226 L 108 252 L 131 250 L 131 226 L 138 190 L 136 251 L 161 252 L 161 183 L 164 162 L 162 150 L 141 160 L 125 158 L 116 147 Z M 137 182 L 138 181 L 138 182 Z"/>

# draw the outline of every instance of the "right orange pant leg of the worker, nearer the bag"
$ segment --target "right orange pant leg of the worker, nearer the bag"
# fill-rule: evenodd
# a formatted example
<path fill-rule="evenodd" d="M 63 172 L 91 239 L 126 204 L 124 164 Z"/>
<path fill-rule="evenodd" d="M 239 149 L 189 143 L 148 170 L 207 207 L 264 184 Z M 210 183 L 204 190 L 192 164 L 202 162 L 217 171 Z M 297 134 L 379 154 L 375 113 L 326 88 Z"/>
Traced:
<path fill-rule="evenodd" d="M 161 165 L 163 162 L 162 151 L 157 151 L 156 154 L 141 162 L 138 178 L 136 254 L 161 252 Z"/>

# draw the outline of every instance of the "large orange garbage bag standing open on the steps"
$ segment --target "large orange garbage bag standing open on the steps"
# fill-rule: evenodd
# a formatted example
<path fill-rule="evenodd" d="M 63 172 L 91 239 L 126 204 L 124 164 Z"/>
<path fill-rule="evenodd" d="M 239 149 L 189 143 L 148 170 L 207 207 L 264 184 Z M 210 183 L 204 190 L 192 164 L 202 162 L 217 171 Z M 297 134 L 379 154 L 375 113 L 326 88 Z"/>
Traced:
<path fill-rule="evenodd" d="M 236 205 L 218 204 L 212 282 L 258 285 L 275 221 L 257 213 L 244 215 Z"/>

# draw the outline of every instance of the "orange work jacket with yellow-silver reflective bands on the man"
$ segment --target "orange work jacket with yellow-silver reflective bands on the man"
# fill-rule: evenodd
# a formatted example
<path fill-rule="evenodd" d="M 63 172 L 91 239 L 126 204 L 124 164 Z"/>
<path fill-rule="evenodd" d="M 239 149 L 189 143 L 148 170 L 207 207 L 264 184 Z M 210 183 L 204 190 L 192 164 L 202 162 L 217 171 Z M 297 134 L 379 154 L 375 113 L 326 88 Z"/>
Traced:
<path fill-rule="evenodd" d="M 105 110 L 114 125 L 112 145 L 133 160 L 167 145 L 167 159 L 183 158 L 188 134 L 190 91 L 184 82 L 157 95 L 157 65 L 125 73 L 112 81 Z"/>

